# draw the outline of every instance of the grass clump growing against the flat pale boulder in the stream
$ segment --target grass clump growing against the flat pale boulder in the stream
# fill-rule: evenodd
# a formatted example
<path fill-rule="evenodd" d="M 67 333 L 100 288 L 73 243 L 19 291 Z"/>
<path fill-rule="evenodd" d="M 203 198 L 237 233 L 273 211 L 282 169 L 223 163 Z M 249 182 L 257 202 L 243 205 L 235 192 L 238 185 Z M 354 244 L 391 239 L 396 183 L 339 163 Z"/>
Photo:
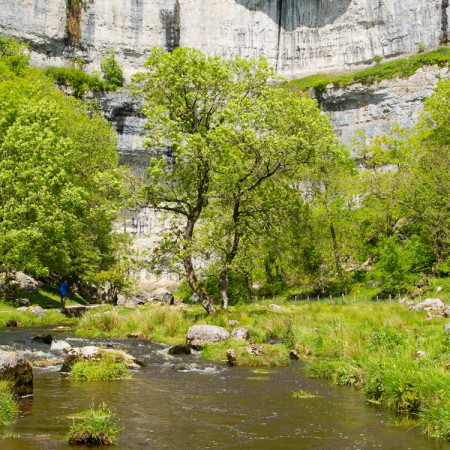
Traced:
<path fill-rule="evenodd" d="M 81 381 L 109 381 L 129 378 L 130 372 L 123 362 L 117 362 L 105 353 L 100 361 L 76 362 L 70 377 Z"/>

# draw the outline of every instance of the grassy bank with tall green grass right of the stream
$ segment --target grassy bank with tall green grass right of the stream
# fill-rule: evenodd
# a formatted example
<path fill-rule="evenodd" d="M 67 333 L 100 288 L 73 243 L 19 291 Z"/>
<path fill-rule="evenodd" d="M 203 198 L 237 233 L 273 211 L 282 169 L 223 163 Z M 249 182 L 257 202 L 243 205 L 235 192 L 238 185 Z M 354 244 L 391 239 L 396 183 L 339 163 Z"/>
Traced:
<path fill-rule="evenodd" d="M 445 296 L 445 295 L 444 295 Z M 347 298 L 322 302 L 277 301 L 238 305 L 205 317 L 198 305 L 181 308 L 105 307 L 86 315 L 77 334 L 87 337 L 142 338 L 183 343 L 193 324 L 232 330 L 230 320 L 246 327 L 256 344 L 275 341 L 280 351 L 264 365 L 286 363 L 286 350 L 296 348 L 313 377 L 361 387 L 366 398 L 408 416 L 431 437 L 450 439 L 450 336 L 448 319 L 426 320 L 426 312 L 406 304 Z M 233 339 L 207 345 L 202 357 L 224 360 L 229 348 L 247 346 Z M 281 347 L 284 346 L 285 350 Z M 250 365 L 257 362 L 252 360 Z M 262 364 L 261 364 L 262 365 Z"/>

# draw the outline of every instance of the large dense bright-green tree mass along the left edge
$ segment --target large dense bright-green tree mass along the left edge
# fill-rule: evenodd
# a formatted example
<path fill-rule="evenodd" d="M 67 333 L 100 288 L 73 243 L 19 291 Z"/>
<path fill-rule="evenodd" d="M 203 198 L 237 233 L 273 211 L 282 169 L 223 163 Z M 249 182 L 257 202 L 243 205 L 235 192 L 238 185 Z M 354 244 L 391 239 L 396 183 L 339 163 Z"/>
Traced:
<path fill-rule="evenodd" d="M 121 206 L 116 136 L 43 72 L 0 58 L 0 264 L 89 276 L 114 260 Z"/>

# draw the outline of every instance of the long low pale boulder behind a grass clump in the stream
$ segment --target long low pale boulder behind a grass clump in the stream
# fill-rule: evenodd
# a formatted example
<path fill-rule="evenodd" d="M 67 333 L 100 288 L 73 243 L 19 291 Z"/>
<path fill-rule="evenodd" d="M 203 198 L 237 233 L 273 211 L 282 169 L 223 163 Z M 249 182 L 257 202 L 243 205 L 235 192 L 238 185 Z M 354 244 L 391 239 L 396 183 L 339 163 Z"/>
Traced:
<path fill-rule="evenodd" d="M 143 361 L 122 350 L 105 349 L 88 345 L 86 347 L 69 349 L 61 366 L 61 372 L 70 372 L 73 365 L 78 361 L 100 361 L 105 354 L 108 354 L 118 362 L 123 362 L 129 369 L 137 369 L 145 366 Z"/>

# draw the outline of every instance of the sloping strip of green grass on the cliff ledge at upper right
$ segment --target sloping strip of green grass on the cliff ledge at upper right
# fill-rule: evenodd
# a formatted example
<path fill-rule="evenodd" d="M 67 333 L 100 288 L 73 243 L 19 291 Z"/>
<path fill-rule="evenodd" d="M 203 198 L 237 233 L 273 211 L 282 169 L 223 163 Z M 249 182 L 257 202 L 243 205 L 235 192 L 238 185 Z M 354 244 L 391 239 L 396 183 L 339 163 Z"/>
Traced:
<path fill-rule="evenodd" d="M 314 89 L 316 94 L 325 91 L 328 84 L 334 86 L 347 87 L 356 83 L 370 85 L 382 80 L 393 78 L 409 78 L 423 66 L 444 67 L 450 61 L 450 49 L 447 47 L 439 48 L 428 53 L 420 53 L 400 58 L 386 63 L 376 64 L 358 72 L 343 75 L 312 75 L 297 80 L 292 80 L 283 84 L 287 90 L 297 92 L 306 91 L 309 88 Z"/>

